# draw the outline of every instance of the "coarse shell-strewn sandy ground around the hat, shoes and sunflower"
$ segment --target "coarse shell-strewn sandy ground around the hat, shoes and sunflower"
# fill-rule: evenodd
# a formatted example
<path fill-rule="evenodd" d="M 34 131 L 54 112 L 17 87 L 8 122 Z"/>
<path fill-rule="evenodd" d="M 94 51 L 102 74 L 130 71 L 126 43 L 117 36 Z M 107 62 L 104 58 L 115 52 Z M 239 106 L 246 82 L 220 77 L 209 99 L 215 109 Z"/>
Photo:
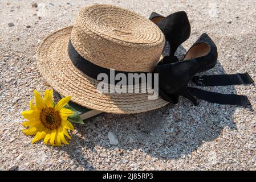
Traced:
<path fill-rule="evenodd" d="M 248 72 L 256 80 L 256 2 L 251 1 L 0 1 L 0 169 L 256 169 L 255 85 L 204 88 L 245 94 L 251 108 L 210 104 L 193 106 L 181 98 L 159 110 L 132 115 L 102 114 L 74 125 L 70 145 L 32 145 L 21 133 L 21 111 L 33 90 L 50 86 L 36 69 L 40 41 L 71 25 L 83 6 L 118 5 L 149 16 L 185 10 L 192 34 L 188 49 L 203 33 L 218 47 L 218 64 L 205 74 Z M 9 27 L 8 23 L 14 26 Z M 10 24 L 11 25 L 11 24 Z M 112 131 L 119 140 L 109 144 Z"/>

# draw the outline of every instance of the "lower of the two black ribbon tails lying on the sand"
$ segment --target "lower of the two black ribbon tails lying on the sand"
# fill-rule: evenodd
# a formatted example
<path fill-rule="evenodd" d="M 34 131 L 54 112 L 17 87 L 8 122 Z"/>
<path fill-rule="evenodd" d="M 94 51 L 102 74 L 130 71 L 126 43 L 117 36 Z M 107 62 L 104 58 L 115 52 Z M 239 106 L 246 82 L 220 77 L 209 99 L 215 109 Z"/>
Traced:
<path fill-rule="evenodd" d="M 237 94 L 222 94 L 216 92 L 209 92 L 206 90 L 188 87 L 188 90 L 193 96 L 205 100 L 208 102 L 216 104 L 225 104 L 225 105 L 239 105 L 247 106 L 251 105 L 250 101 L 246 96 L 241 96 Z"/>

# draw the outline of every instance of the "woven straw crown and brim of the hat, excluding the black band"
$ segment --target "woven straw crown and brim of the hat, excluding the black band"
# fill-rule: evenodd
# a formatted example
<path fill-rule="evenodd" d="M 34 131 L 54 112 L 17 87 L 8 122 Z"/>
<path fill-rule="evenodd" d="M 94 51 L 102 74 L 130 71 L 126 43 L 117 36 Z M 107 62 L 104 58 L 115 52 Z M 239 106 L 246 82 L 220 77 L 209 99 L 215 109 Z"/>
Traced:
<path fill-rule="evenodd" d="M 102 94 L 100 81 L 80 71 L 68 55 L 68 43 L 99 67 L 126 72 L 152 72 L 164 47 L 164 35 L 147 18 L 110 5 L 84 7 L 74 26 L 48 35 L 36 53 L 40 74 L 63 96 L 90 109 L 107 113 L 140 113 L 168 104 L 148 100 L 148 93 Z"/>

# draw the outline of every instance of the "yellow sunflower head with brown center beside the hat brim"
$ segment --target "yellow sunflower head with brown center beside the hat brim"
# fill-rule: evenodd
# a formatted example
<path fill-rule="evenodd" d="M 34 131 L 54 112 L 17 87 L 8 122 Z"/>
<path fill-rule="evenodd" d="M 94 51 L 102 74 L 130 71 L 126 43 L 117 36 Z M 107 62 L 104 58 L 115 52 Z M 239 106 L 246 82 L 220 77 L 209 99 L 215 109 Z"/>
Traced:
<path fill-rule="evenodd" d="M 43 142 L 52 146 L 61 146 L 62 143 L 68 144 L 65 136 L 71 139 L 68 130 L 74 130 L 72 124 L 67 120 L 73 114 L 70 109 L 64 106 L 70 101 L 71 97 L 62 98 L 58 104 L 52 101 L 53 90 L 44 92 L 44 99 L 40 93 L 34 90 L 35 105 L 33 100 L 30 102 L 30 110 L 23 111 L 21 114 L 27 119 L 23 126 L 29 127 L 22 130 L 26 135 L 35 135 L 32 144 L 43 139 Z"/>

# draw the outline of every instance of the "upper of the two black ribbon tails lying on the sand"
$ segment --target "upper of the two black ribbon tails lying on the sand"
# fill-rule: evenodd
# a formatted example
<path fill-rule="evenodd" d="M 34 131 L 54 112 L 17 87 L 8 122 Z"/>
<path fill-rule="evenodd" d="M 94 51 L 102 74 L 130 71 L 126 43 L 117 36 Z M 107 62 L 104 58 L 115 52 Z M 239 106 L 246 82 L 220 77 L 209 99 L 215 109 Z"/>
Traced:
<path fill-rule="evenodd" d="M 248 73 L 194 76 L 192 81 L 198 86 L 243 85 L 254 82 Z"/>

